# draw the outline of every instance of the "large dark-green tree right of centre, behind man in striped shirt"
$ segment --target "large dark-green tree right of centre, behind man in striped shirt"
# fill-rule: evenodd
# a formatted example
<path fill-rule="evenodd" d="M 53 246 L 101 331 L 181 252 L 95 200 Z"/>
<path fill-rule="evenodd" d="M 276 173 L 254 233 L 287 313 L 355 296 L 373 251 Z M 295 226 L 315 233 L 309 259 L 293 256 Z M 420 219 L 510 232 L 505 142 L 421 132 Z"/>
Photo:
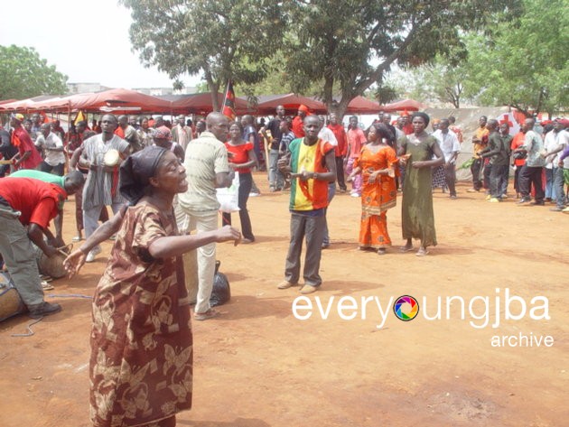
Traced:
<path fill-rule="evenodd" d="M 392 64 L 416 66 L 462 46 L 460 32 L 517 11 L 518 0 L 295 0 L 287 38 L 294 89 L 320 81 L 322 100 L 338 110 L 380 84 Z"/>

